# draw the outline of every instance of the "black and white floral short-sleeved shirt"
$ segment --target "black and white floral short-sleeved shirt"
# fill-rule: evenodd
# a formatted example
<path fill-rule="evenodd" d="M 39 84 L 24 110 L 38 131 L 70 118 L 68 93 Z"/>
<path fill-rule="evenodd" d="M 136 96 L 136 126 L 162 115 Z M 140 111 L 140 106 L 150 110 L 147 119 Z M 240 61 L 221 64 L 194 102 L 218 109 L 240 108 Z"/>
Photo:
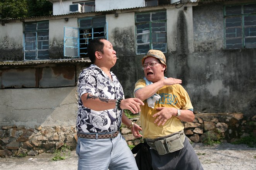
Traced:
<path fill-rule="evenodd" d="M 124 98 L 124 92 L 119 80 L 110 72 L 112 80 L 102 69 L 96 65 L 90 65 L 85 68 L 79 76 L 77 83 L 78 91 L 78 114 L 76 118 L 76 129 L 80 133 L 104 133 L 116 131 L 120 128 L 122 110 L 116 108 L 95 111 L 84 107 L 81 96 L 84 93 L 107 98 L 117 99 Z M 99 106 L 100 107 L 100 106 Z"/>

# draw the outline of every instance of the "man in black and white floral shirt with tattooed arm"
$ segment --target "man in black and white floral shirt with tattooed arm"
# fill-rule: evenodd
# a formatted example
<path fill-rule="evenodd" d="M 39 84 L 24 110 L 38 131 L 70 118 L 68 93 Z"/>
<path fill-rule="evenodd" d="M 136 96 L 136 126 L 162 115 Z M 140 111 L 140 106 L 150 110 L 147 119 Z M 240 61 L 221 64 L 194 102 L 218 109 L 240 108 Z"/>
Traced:
<path fill-rule="evenodd" d="M 108 40 L 91 40 L 87 52 L 93 64 L 80 73 L 78 80 L 78 170 L 137 170 L 119 128 L 123 122 L 135 137 L 141 137 L 141 127 L 131 122 L 123 109 L 138 113 L 144 103 L 137 98 L 124 99 L 119 80 L 110 72 L 117 57 Z"/>

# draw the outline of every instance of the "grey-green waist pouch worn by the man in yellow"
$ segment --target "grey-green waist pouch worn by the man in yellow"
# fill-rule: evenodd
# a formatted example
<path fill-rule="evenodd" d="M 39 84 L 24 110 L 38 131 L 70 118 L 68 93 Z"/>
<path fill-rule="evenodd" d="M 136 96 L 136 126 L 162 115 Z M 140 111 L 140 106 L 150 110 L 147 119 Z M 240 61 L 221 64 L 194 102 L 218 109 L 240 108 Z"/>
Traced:
<path fill-rule="evenodd" d="M 159 137 L 154 140 L 146 139 L 147 144 L 156 150 L 159 155 L 165 155 L 167 153 L 175 152 L 184 147 L 183 142 L 185 141 L 184 131 L 173 133 L 165 137 Z"/>

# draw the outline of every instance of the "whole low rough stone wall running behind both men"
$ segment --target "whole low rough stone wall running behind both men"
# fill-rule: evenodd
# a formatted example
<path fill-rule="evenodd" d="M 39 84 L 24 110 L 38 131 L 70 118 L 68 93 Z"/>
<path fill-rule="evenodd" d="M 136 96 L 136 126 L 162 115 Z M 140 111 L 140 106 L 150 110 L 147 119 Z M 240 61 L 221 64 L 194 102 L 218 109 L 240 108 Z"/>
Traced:
<path fill-rule="evenodd" d="M 131 120 L 140 125 L 139 117 Z M 209 138 L 221 142 L 234 142 L 250 134 L 256 136 L 255 113 L 198 113 L 195 114 L 194 122 L 183 124 L 185 134 L 191 142 L 205 142 Z M 135 139 L 126 126 L 122 126 L 121 132 L 129 145 L 137 145 L 142 141 Z M 0 157 L 53 153 L 64 144 L 73 150 L 76 147 L 76 140 L 75 126 L 3 126 L 0 129 Z"/>

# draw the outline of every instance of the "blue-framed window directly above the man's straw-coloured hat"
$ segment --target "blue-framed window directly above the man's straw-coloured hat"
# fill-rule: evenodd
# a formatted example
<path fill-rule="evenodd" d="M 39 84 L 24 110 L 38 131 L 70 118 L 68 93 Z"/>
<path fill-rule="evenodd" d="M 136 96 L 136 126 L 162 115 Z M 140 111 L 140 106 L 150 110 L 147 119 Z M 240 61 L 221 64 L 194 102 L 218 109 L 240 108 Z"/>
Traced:
<path fill-rule="evenodd" d="M 136 54 L 148 50 L 167 52 L 166 11 L 136 13 Z"/>

